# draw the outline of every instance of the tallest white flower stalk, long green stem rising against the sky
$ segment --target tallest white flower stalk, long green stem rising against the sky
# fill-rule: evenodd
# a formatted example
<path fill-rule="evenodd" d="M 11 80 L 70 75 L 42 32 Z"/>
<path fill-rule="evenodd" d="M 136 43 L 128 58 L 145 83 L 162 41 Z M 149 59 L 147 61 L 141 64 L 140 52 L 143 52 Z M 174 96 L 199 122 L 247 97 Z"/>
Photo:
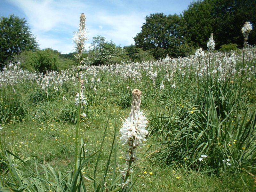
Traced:
<path fill-rule="evenodd" d="M 78 61 L 78 73 L 77 73 L 77 78 L 78 78 L 78 111 L 77 111 L 77 122 L 76 122 L 76 154 L 75 154 L 75 172 L 77 169 L 77 161 L 78 161 L 78 135 L 79 135 L 79 129 L 80 129 L 80 113 L 81 113 L 81 92 L 83 90 L 83 80 L 80 79 L 80 65 L 83 63 L 81 60 L 82 53 L 84 52 L 84 43 L 87 40 L 87 32 L 85 30 L 85 15 L 82 13 L 80 15 L 80 22 L 79 22 L 79 28 L 78 32 L 76 31 L 73 36 L 73 42 L 76 44 L 76 52 L 77 55 L 75 55 L 76 60 Z"/>

